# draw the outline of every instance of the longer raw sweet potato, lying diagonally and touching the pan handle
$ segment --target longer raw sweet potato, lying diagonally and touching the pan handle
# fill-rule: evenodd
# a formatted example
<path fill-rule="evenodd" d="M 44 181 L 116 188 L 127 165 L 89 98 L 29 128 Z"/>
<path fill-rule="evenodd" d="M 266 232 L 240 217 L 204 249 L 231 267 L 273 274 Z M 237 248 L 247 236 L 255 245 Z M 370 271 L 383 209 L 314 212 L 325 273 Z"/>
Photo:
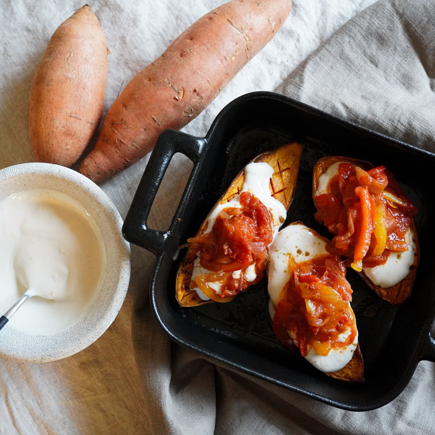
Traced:
<path fill-rule="evenodd" d="M 146 155 L 206 108 L 282 27 L 291 0 L 232 0 L 199 18 L 114 101 L 79 171 L 97 182 Z"/>

